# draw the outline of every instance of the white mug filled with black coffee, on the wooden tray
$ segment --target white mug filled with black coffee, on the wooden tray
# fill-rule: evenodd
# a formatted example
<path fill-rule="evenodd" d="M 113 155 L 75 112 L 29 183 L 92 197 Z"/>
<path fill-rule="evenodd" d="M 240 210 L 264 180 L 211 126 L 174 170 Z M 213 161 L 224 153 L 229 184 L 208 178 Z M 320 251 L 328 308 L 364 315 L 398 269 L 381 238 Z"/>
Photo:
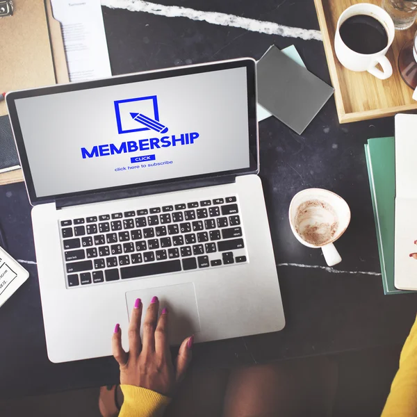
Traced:
<path fill-rule="evenodd" d="M 382 51 L 375 54 L 359 54 L 348 48 L 341 38 L 340 28 L 349 17 L 356 15 L 368 15 L 374 17 L 384 26 L 388 35 L 388 44 Z M 343 67 L 347 70 L 362 72 L 368 71 L 379 79 L 388 79 L 393 74 L 393 67 L 386 58 L 386 52 L 391 47 L 395 36 L 395 26 L 391 16 L 383 8 L 370 3 L 358 3 L 348 7 L 339 17 L 334 38 L 334 50 Z M 376 65 L 381 65 L 382 71 Z"/>

